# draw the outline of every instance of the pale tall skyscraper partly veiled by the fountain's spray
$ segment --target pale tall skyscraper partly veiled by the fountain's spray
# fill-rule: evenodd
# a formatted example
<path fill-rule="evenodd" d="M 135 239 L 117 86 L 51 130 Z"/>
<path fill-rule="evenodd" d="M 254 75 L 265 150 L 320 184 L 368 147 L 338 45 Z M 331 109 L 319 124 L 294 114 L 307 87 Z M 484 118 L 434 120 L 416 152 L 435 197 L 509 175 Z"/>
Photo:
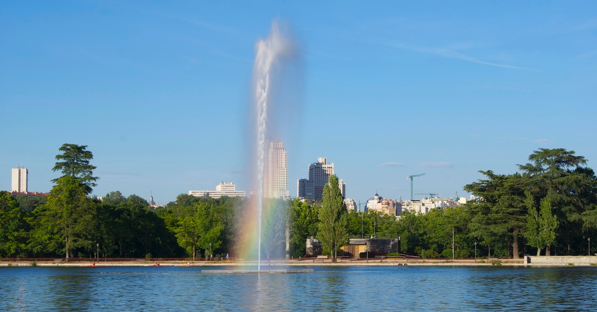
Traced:
<path fill-rule="evenodd" d="M 286 150 L 282 141 L 267 141 L 266 144 L 263 197 L 287 199 L 290 191 Z"/>

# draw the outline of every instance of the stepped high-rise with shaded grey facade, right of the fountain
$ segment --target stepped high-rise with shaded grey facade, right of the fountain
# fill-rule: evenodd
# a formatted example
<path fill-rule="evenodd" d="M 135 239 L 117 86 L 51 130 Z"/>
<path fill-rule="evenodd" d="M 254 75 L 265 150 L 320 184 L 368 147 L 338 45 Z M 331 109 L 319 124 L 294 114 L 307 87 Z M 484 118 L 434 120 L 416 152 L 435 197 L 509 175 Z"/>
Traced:
<path fill-rule="evenodd" d="M 310 200 L 321 200 L 324 194 L 324 186 L 330 181 L 330 175 L 334 174 L 334 163 L 328 163 L 325 157 L 319 157 L 317 162 L 309 165 L 309 179 L 297 181 L 297 196 Z M 346 184 L 338 180 L 338 187 L 342 197 L 346 197 Z"/>

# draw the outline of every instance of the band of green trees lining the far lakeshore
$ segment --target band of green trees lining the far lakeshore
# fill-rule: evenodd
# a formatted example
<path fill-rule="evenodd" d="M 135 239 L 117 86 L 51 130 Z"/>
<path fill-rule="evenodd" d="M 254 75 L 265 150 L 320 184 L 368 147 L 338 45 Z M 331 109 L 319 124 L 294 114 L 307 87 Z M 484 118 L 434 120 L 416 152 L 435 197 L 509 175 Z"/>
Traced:
<path fill-rule="evenodd" d="M 243 238 L 245 212 L 253 199 L 180 194 L 153 209 L 139 196 L 112 191 L 100 201 L 90 196 L 99 178 L 86 148 L 60 147 L 53 169 L 63 175 L 48 196 L 0 192 L 0 258 L 246 256 L 252 242 Z M 331 261 L 359 257 L 340 250 L 351 237 L 400 237 L 402 254 L 423 259 L 453 251 L 456 258 L 588 255 L 597 237 L 597 178 L 586 163 L 573 151 L 539 149 L 518 172 L 480 171 L 484 179 L 464 186 L 475 200 L 398 218 L 346 211 L 332 176 L 321 202 L 266 202 L 262 259 L 284 258 L 287 240 L 290 256 L 304 257 L 307 237 L 320 239 Z"/>

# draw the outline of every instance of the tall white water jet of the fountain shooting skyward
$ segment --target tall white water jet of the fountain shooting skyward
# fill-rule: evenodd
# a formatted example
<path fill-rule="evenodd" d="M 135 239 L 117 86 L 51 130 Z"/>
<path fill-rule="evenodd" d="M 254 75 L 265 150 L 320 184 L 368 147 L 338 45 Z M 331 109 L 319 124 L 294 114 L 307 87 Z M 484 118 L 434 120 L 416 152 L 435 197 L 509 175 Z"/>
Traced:
<path fill-rule="evenodd" d="M 294 54 L 294 44 L 284 36 L 278 23 L 272 23 L 272 31 L 266 39 L 256 43 L 256 56 L 253 65 L 255 86 L 254 101 L 257 112 L 257 270 L 261 270 L 261 212 L 263 210 L 263 184 L 266 153 L 267 108 L 272 98 L 273 70 L 281 61 Z"/>

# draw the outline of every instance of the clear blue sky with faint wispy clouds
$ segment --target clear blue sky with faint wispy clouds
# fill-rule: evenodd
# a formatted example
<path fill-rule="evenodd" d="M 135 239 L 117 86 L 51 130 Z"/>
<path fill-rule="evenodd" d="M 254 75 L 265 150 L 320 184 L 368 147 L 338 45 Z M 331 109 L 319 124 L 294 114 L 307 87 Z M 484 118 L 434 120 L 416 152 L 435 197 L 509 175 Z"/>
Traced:
<path fill-rule="evenodd" d="M 595 168 L 592 1 L 7 2 L 0 189 L 23 164 L 29 190 L 49 191 L 72 143 L 94 154 L 97 196 L 248 190 L 254 47 L 273 20 L 302 55 L 291 196 L 317 157 L 357 202 L 407 199 L 421 173 L 416 193 L 466 195 L 479 170 L 516 172 L 539 148 Z"/>

